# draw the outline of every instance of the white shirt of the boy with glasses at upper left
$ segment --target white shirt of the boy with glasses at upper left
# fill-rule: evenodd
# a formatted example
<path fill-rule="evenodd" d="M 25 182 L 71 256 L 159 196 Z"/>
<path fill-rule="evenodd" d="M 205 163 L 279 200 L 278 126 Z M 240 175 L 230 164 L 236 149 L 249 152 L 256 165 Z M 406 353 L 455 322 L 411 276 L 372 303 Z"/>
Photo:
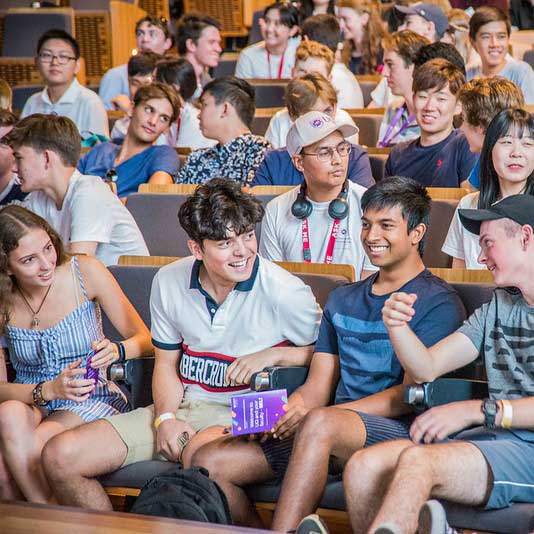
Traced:
<path fill-rule="evenodd" d="M 76 124 L 82 137 L 96 133 L 109 138 L 108 116 L 104 104 L 94 91 L 80 85 L 76 78 L 55 104 L 50 102 L 46 87 L 30 96 L 24 104 L 21 118 L 34 113 L 55 113 L 68 117 Z"/>

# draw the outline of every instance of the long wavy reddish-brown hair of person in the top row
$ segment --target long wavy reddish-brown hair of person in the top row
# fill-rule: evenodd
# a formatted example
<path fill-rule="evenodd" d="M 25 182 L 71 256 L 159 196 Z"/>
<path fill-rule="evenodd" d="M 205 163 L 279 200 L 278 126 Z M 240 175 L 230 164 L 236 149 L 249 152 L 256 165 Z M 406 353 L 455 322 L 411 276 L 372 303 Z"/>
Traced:
<path fill-rule="evenodd" d="M 376 74 L 381 41 L 386 35 L 380 16 L 380 2 L 377 0 L 339 0 L 336 5 L 338 9 L 347 7 L 356 11 L 358 15 L 364 13 L 369 15 L 369 22 L 362 39 L 362 71 L 363 74 Z M 345 41 L 341 58 L 347 65 L 353 51 L 354 43 L 352 40 Z"/>

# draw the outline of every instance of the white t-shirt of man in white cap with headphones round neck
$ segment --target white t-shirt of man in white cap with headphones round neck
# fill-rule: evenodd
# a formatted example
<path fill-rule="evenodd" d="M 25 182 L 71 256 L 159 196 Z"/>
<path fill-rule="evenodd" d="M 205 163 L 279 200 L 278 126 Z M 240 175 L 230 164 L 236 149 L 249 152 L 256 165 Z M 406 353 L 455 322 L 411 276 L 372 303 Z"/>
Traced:
<path fill-rule="evenodd" d="M 291 206 L 299 190 L 300 186 L 277 196 L 267 204 L 261 225 L 260 254 L 264 258 L 272 261 L 303 261 L 302 220 L 291 213 Z M 361 198 L 365 191 L 361 185 L 349 181 L 349 215 L 341 221 L 334 246 L 333 263 L 353 265 L 357 280 L 363 269 L 376 270 L 360 241 Z M 310 202 L 313 205 L 312 214 L 308 218 L 311 261 L 323 263 L 334 221 L 328 215 L 329 202 Z"/>

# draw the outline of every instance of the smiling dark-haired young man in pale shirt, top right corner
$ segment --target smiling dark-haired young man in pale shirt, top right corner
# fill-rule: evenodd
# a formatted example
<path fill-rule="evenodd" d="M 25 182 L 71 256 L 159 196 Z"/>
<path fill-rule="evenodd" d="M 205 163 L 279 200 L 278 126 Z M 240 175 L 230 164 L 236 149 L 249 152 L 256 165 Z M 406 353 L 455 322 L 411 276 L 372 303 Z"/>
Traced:
<path fill-rule="evenodd" d="M 469 37 L 480 54 L 481 65 L 467 71 L 467 79 L 502 76 L 523 91 L 525 102 L 534 104 L 532 67 L 508 55 L 511 25 L 508 15 L 496 7 L 479 7 L 469 21 Z"/>

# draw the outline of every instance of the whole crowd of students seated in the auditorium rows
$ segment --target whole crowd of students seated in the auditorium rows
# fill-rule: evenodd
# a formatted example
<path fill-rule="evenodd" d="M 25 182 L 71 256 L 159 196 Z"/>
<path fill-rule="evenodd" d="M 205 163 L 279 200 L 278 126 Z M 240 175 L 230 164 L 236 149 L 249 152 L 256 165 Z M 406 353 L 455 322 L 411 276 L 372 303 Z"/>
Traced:
<path fill-rule="evenodd" d="M 512 29 L 534 16 L 525 0 L 493 4 L 275 2 L 251 29 L 261 39 L 218 77 L 219 21 L 188 13 L 171 31 L 146 16 L 136 54 L 98 94 L 77 80 L 71 35 L 40 37 L 45 86 L 20 116 L 0 80 L 0 334 L 16 372 L 9 383 L 0 361 L 0 498 L 111 509 L 97 477 L 163 457 L 207 467 L 236 524 L 262 526 L 244 486 L 282 483 L 272 528 L 302 534 L 327 532 L 307 516 L 343 469 L 355 532 L 413 532 L 422 510 L 420 532 L 445 533 L 431 530 L 447 528 L 431 498 L 534 502 L 521 345 L 534 329 L 534 71 L 510 53 Z M 368 104 L 384 108 L 381 180 L 350 114 L 364 107 L 357 75 L 381 75 Z M 265 136 L 251 132 L 258 78 L 287 80 Z M 109 110 L 123 112 L 111 131 Z M 182 164 L 179 148 L 191 149 Z M 144 183 L 199 185 L 179 211 L 192 257 L 158 272 L 150 334 L 106 269 L 149 254 L 125 205 Z M 242 190 L 256 185 L 295 187 L 263 207 Z M 426 187 L 470 189 L 442 244 L 452 267 L 519 291 L 497 289 L 466 319 L 422 260 Z M 321 310 L 274 261 L 350 264 L 357 282 Z M 122 341 L 104 338 L 100 308 Z M 488 399 L 408 412 L 403 385 L 482 347 Z M 155 404 L 130 412 L 103 370 L 152 350 Z M 227 436 L 230 393 L 269 365 L 310 371 L 268 439 Z"/>

